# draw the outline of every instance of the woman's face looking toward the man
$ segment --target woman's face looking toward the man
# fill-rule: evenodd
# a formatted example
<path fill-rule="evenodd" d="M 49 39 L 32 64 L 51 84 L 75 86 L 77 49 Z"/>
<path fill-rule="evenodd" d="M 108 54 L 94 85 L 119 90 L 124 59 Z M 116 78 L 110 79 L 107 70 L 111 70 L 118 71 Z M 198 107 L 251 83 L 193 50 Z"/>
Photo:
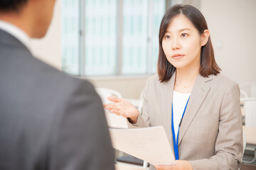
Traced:
<path fill-rule="evenodd" d="M 199 69 L 201 46 L 201 35 L 182 14 L 174 18 L 162 40 L 164 54 L 176 69 Z"/>

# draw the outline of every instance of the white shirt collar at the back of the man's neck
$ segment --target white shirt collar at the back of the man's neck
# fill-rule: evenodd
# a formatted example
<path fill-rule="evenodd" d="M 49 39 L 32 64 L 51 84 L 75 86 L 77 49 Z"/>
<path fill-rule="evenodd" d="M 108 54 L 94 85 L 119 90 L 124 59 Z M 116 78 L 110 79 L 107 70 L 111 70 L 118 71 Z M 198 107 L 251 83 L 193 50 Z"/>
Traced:
<path fill-rule="evenodd" d="M 6 31 L 6 33 L 13 35 L 15 38 L 20 40 L 21 43 L 23 43 L 23 45 L 25 45 L 29 49 L 29 37 L 28 37 L 28 34 L 26 34 L 23 30 L 12 25 L 11 23 L 7 23 L 1 20 L 0 20 L 0 29 Z"/>

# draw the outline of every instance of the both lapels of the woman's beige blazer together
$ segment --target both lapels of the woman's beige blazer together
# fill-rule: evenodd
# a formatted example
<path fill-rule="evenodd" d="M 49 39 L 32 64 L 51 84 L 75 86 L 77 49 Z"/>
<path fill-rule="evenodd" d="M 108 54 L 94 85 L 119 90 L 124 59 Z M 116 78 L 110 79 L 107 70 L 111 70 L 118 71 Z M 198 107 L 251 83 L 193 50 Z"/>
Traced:
<path fill-rule="evenodd" d="M 161 84 L 161 98 L 166 98 L 166 100 L 161 102 L 161 118 L 163 122 L 164 129 L 166 130 L 167 137 L 169 139 L 171 149 L 174 151 L 174 142 L 172 138 L 171 132 L 171 103 L 174 97 L 174 83 L 176 79 L 176 72 L 173 74 L 169 81 L 166 81 Z M 211 81 L 213 76 L 202 77 L 200 74 L 198 75 L 196 82 L 193 86 L 193 90 L 191 91 L 191 96 L 188 101 L 188 106 L 186 108 L 186 112 L 184 114 L 181 128 L 179 130 L 178 135 L 178 144 L 181 142 L 183 136 L 188 130 L 189 125 L 193 121 L 193 118 L 196 116 L 198 109 L 206 98 L 208 91 L 210 90 L 210 86 L 207 84 L 208 81 Z"/>

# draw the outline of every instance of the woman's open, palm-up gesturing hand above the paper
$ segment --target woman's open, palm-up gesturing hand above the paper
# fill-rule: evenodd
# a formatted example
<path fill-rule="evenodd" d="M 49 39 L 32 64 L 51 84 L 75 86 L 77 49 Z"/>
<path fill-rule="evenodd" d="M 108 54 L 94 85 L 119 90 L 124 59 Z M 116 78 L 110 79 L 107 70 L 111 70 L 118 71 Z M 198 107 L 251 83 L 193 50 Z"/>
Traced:
<path fill-rule="evenodd" d="M 104 104 L 103 106 L 105 109 L 109 110 L 111 113 L 122 115 L 124 118 L 129 118 L 132 123 L 137 123 L 139 111 L 131 102 L 124 98 L 117 98 L 114 96 L 109 96 L 107 99 L 114 103 Z"/>

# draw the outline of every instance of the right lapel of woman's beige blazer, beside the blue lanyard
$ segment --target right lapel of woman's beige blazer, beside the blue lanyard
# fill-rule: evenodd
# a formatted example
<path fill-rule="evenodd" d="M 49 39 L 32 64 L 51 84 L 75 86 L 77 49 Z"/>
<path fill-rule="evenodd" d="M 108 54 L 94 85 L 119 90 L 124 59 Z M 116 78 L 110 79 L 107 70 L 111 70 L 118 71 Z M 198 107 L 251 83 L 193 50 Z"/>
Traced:
<path fill-rule="evenodd" d="M 183 116 L 181 127 L 179 129 L 178 144 L 180 144 L 182 137 L 186 133 L 186 130 L 188 129 L 193 118 L 198 112 L 198 109 L 201 107 L 201 104 L 206 98 L 208 91 L 210 90 L 210 86 L 208 86 L 206 82 L 210 81 L 211 79 L 213 79 L 212 76 L 205 78 L 201 77 L 201 75 L 198 75 L 198 78 L 196 79 L 196 83 L 193 86 L 193 90 L 188 101 L 186 112 L 184 113 Z"/>

